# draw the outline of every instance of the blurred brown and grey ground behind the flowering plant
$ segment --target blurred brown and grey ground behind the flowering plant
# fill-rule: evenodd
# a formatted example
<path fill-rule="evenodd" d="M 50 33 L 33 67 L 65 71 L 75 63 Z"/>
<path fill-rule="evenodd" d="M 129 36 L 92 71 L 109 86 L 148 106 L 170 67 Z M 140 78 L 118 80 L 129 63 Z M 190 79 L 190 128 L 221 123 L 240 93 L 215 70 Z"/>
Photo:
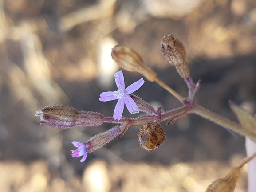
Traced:
<path fill-rule="evenodd" d="M 71 157 L 72 141 L 110 129 L 58 130 L 35 112 L 53 104 L 112 116 L 116 44 L 133 48 L 183 97 L 185 82 L 161 54 L 173 33 L 187 50 L 197 102 L 236 121 L 232 100 L 255 113 L 255 0 L 0 0 L 0 187 L 2 192 L 203 192 L 245 157 L 244 137 L 196 115 L 162 125 L 154 152 L 138 146 L 138 128 L 89 153 Z M 142 78 L 124 72 L 126 86 Z M 155 82 L 136 95 L 170 110 L 180 102 Z M 124 110 L 127 117 L 136 117 Z M 236 192 L 246 191 L 246 168 Z"/>

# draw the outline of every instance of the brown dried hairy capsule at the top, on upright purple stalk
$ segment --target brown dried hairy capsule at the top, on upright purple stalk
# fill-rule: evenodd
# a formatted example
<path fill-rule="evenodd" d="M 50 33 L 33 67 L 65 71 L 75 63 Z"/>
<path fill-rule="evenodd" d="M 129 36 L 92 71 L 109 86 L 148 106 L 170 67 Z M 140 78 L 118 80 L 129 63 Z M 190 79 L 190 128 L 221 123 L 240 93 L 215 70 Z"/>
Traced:
<path fill-rule="evenodd" d="M 189 76 L 189 67 L 186 63 L 186 50 L 181 41 L 173 34 L 163 37 L 161 41 L 162 53 L 167 61 L 174 65 L 182 78 Z"/>

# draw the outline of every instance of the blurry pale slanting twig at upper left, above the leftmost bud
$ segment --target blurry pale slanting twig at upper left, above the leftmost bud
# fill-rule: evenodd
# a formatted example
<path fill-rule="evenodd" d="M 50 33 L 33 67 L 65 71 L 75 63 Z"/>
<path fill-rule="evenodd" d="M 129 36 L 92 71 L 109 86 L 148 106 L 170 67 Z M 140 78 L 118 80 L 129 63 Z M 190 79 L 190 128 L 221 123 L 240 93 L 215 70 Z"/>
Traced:
<path fill-rule="evenodd" d="M 44 96 L 46 103 L 59 103 L 67 98 L 59 86 L 51 80 L 47 59 L 43 55 L 39 37 L 33 33 L 34 29 L 36 25 L 33 22 L 24 23 L 23 31 L 26 31 L 26 34 L 20 41 L 27 75 L 39 93 Z"/>

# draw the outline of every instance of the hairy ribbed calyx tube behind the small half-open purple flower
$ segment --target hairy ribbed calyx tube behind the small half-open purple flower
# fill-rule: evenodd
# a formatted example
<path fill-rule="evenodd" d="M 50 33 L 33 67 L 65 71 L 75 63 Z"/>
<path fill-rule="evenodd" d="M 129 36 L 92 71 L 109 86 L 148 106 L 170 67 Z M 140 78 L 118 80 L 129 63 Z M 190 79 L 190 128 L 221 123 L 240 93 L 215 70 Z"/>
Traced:
<path fill-rule="evenodd" d="M 113 140 L 115 137 L 118 137 L 122 134 L 122 129 L 119 126 L 113 127 L 103 133 L 99 133 L 91 137 L 88 141 L 84 143 L 87 147 L 87 152 L 91 153 L 102 146 L 106 145 L 108 142 Z"/>

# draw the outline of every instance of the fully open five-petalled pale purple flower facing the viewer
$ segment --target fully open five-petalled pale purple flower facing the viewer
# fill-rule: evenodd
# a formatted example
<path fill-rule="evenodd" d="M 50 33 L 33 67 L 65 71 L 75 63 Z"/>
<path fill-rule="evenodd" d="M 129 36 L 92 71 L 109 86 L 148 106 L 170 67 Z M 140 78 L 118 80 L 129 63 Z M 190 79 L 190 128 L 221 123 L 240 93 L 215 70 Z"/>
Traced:
<path fill-rule="evenodd" d="M 103 92 L 102 94 L 100 94 L 99 100 L 102 102 L 108 102 L 108 101 L 118 99 L 118 102 L 114 108 L 114 115 L 113 115 L 113 118 L 117 119 L 118 121 L 122 118 L 124 104 L 126 104 L 126 107 L 131 114 L 136 114 L 136 113 L 138 114 L 139 108 L 134 102 L 134 100 L 130 97 L 130 94 L 138 90 L 144 84 L 145 81 L 143 80 L 143 78 L 134 82 L 133 84 L 128 86 L 126 89 L 125 89 L 122 70 L 114 74 L 114 80 L 118 90 Z"/>

